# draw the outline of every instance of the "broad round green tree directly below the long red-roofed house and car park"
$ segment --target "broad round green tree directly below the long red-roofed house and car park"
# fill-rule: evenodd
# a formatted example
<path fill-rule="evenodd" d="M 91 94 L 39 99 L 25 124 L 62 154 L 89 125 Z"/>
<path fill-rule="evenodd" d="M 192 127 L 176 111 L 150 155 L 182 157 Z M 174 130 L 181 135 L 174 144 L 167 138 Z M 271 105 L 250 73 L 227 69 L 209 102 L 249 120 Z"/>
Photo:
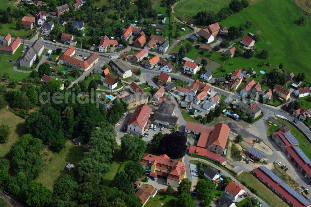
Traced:
<path fill-rule="evenodd" d="M 146 151 L 146 142 L 136 135 L 125 134 L 121 137 L 121 149 L 124 160 L 138 160 Z"/>

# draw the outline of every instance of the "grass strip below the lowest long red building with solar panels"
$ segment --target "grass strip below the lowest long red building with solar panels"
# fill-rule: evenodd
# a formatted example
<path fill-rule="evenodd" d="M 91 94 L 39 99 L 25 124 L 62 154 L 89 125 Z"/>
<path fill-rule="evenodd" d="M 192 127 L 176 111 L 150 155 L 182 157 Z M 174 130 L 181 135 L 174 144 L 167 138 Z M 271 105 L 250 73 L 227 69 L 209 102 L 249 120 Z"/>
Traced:
<path fill-rule="evenodd" d="M 256 189 L 256 195 L 258 195 L 258 197 L 260 197 L 262 200 L 266 201 L 270 206 L 287 206 L 280 197 L 272 192 L 265 184 L 260 182 L 253 174 L 246 172 L 241 173 L 239 175 L 239 180 L 244 181 L 246 185 L 252 186 L 254 189 Z"/>

